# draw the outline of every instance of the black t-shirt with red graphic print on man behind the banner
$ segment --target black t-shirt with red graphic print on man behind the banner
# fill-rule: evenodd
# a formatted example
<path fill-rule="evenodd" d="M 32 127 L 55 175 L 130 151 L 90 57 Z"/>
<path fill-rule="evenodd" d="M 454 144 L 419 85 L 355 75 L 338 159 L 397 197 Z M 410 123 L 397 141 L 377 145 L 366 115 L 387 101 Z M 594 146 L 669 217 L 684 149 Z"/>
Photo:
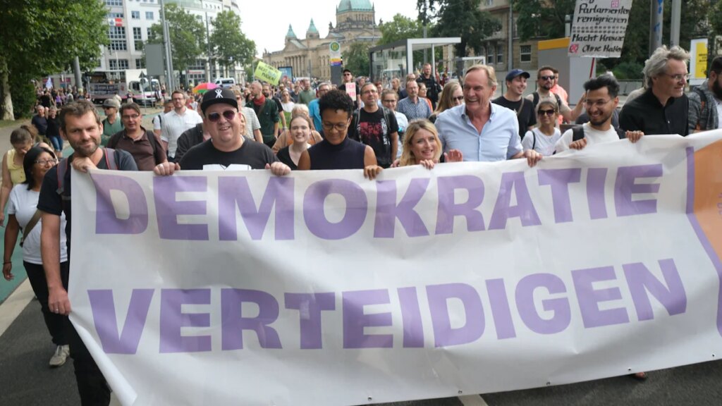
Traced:
<path fill-rule="evenodd" d="M 388 168 L 393 162 L 390 134 L 399 132 L 396 116 L 391 111 L 387 116 L 388 123 L 383 115 L 383 108 L 378 108 L 373 113 L 361 109 L 354 113 L 349 126 L 349 137 L 371 147 L 378 165 L 383 168 Z"/>

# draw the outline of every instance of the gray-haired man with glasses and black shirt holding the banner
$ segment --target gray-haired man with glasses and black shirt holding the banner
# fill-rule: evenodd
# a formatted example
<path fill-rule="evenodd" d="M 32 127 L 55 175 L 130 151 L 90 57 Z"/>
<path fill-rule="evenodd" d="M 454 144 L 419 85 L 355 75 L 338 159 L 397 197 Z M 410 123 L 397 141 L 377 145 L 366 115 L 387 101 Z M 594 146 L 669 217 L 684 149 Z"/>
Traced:
<path fill-rule="evenodd" d="M 687 114 L 689 99 L 684 87 L 690 75 L 690 54 L 679 46 L 661 46 L 645 61 L 643 74 L 647 90 L 628 101 L 619 113 L 619 126 L 626 131 L 644 134 L 689 134 Z"/>

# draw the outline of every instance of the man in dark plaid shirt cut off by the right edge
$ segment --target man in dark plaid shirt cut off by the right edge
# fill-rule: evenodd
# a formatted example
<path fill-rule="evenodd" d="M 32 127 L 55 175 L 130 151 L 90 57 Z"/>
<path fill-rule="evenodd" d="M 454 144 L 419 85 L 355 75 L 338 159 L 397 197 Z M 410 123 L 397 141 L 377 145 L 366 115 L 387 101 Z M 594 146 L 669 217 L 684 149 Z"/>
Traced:
<path fill-rule="evenodd" d="M 712 61 L 707 80 L 687 93 L 690 99 L 690 133 L 719 129 L 722 117 L 722 56 Z"/>

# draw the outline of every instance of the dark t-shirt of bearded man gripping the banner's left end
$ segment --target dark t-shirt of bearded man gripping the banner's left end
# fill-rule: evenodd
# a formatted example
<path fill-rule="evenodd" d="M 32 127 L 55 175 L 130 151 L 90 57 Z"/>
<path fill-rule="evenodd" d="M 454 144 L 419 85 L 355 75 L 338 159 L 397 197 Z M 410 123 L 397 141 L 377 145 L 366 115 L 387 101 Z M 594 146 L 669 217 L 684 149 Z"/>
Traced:
<path fill-rule="evenodd" d="M 133 156 L 126 151 L 115 150 L 116 154 L 116 165 L 118 170 L 138 170 Z M 68 257 L 70 257 L 70 225 L 73 223 L 71 217 L 71 184 L 70 184 L 70 163 L 73 160 L 74 155 L 67 157 L 68 170 L 65 171 L 63 181 L 63 196 L 58 194 L 58 166 L 66 165 L 65 162 L 58 163 L 54 168 L 48 170 L 43 178 L 43 185 L 40 186 L 40 197 L 38 198 L 38 210 L 50 213 L 51 215 L 60 216 L 63 212 L 65 213 L 65 219 L 67 220 L 65 226 L 65 235 L 67 237 L 68 246 Z M 100 162 L 97 163 L 99 169 L 108 169 L 108 163 L 105 158 L 105 150 L 103 150 L 103 157 L 100 158 Z M 65 199 L 65 201 L 64 201 Z"/>

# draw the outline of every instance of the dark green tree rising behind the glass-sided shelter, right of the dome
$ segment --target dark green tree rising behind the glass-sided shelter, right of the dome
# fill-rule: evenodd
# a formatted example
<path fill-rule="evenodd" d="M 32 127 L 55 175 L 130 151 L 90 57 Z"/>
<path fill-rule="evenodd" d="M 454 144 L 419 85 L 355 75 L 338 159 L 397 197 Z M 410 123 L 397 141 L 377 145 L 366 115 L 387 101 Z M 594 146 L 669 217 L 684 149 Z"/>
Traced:
<path fill-rule="evenodd" d="M 456 56 L 466 56 L 469 49 L 477 55 L 483 41 L 501 30 L 501 22 L 488 12 L 479 9 L 481 0 L 417 0 L 419 20 L 431 22 L 438 37 L 459 37 L 461 43 L 454 46 Z M 457 69 L 461 69 L 459 61 Z"/>

